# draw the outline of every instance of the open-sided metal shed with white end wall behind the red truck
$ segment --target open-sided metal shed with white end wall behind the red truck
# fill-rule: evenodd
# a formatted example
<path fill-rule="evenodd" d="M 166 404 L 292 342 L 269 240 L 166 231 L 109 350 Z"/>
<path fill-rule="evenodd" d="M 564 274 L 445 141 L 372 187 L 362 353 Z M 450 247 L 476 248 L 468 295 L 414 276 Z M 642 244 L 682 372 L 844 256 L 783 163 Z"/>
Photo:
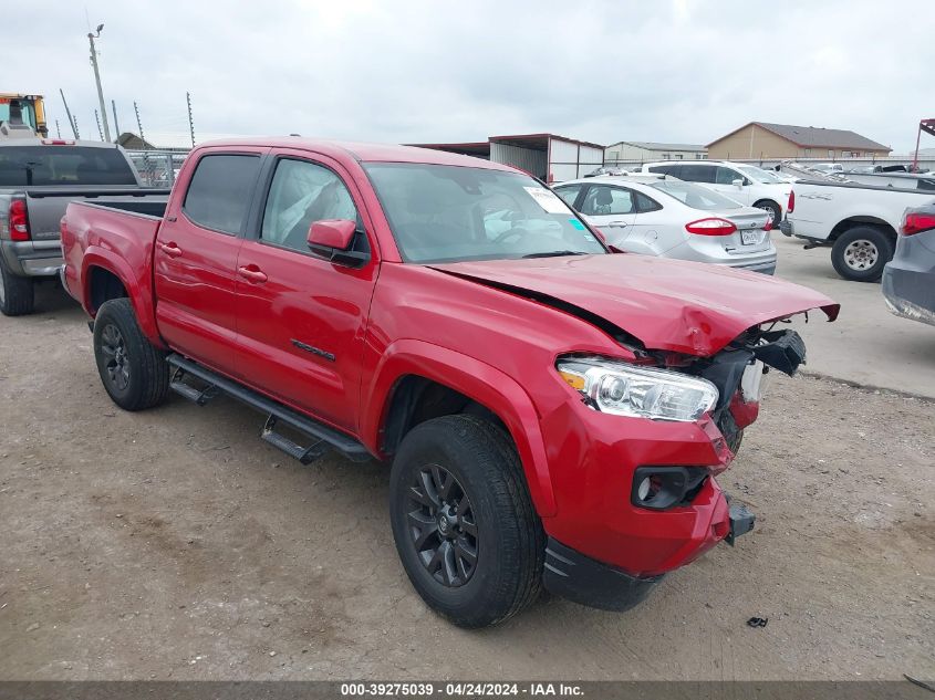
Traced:
<path fill-rule="evenodd" d="M 491 136 L 486 142 L 407 145 L 511 165 L 547 182 L 584 177 L 604 164 L 603 146 L 555 134 L 518 134 Z"/>

